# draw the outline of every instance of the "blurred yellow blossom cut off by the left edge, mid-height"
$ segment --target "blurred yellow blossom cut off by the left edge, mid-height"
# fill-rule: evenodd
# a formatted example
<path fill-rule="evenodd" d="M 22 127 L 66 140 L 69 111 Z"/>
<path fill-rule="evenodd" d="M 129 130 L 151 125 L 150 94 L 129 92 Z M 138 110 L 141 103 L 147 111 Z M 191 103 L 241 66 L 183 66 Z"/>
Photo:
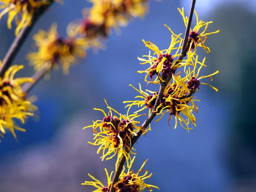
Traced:
<path fill-rule="evenodd" d="M 21 123 L 25 122 L 28 116 L 33 116 L 32 111 L 37 108 L 35 105 L 26 99 L 26 93 L 23 93 L 21 85 L 27 82 L 32 82 L 32 78 L 16 78 L 15 73 L 23 69 L 23 65 L 13 65 L 6 70 L 3 78 L 0 78 L 0 134 L 6 133 L 9 130 L 15 139 L 15 129 L 25 131 L 23 128 L 15 124 L 16 120 Z"/>

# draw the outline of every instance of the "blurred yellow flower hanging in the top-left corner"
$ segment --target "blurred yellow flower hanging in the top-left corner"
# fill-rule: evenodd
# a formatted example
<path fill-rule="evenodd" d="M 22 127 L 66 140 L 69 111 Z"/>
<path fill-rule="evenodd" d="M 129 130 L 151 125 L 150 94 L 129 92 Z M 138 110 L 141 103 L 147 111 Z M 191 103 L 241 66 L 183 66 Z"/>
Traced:
<path fill-rule="evenodd" d="M 62 0 L 55 0 L 62 3 Z M 31 24 L 32 17 L 35 12 L 43 6 L 50 3 L 50 0 L 0 0 L 0 9 L 3 11 L 0 13 L 0 19 L 7 12 L 9 17 L 7 20 L 8 28 L 12 28 L 12 21 L 16 19 L 17 28 L 15 30 L 15 35 L 17 36 L 20 29 Z"/>

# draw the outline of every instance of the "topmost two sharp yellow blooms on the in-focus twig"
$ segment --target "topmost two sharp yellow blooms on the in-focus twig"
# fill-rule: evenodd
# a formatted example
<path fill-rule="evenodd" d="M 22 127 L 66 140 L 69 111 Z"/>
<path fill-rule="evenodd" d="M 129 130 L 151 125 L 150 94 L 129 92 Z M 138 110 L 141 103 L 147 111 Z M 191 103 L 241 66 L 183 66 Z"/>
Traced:
<path fill-rule="evenodd" d="M 183 9 L 178 9 L 180 14 L 183 17 L 185 26 L 188 22 L 188 17 L 184 16 Z M 188 43 L 186 45 L 186 51 L 188 51 L 187 59 L 183 60 L 183 62 L 177 60 L 178 59 L 178 52 L 181 49 L 181 44 L 183 43 L 183 38 L 180 37 L 181 34 L 175 35 L 175 33 L 167 26 L 165 25 L 169 31 L 172 33 L 172 41 L 168 49 L 160 50 L 156 45 L 152 44 L 150 41 L 144 41 L 144 44 L 146 47 L 154 51 L 153 55 L 157 55 L 157 57 L 154 57 L 151 55 L 151 52 L 149 51 L 148 55 L 143 55 L 145 58 L 138 58 L 140 61 L 143 61 L 141 64 L 150 64 L 150 67 L 143 71 L 138 71 L 138 73 L 147 73 L 145 76 L 145 81 L 150 83 L 159 83 L 160 81 L 165 81 L 168 76 L 175 75 L 175 72 L 178 68 L 184 67 L 184 66 L 193 66 L 192 59 L 195 59 L 196 55 L 196 47 L 202 47 L 207 53 L 210 52 L 209 47 L 206 47 L 204 45 L 205 40 L 207 39 L 207 35 L 211 35 L 214 33 L 220 32 L 219 30 L 215 32 L 209 32 L 205 33 L 209 23 L 211 22 L 204 22 L 202 20 L 198 21 L 198 15 L 195 11 L 196 20 L 197 23 L 193 29 L 190 29 L 189 31 L 189 39 Z M 202 27 L 204 27 L 204 31 L 200 34 L 198 33 Z M 202 41 L 202 37 L 204 37 L 204 40 Z M 171 54 L 172 50 L 175 51 L 174 54 Z M 193 51 L 194 50 L 194 51 Z M 185 67 L 186 68 L 186 67 Z M 150 77 L 151 81 L 147 80 L 147 77 Z M 153 80 L 153 76 L 157 75 L 157 78 Z"/>

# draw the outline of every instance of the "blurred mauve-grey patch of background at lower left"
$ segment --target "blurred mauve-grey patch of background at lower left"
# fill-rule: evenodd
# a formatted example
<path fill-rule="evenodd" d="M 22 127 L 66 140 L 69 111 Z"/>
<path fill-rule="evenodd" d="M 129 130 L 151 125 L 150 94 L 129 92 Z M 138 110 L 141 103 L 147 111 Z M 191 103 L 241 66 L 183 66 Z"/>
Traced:
<path fill-rule="evenodd" d="M 0 166 L 0 191 L 90 192 L 92 187 L 81 185 L 84 180 L 90 180 L 87 173 L 106 182 L 104 168 L 109 167 L 109 163 L 102 163 L 95 153 L 96 147 L 86 144 L 93 131 L 81 132 L 84 124 L 92 118 L 90 114 L 78 113 L 63 122 L 52 142 L 10 155 Z"/>

